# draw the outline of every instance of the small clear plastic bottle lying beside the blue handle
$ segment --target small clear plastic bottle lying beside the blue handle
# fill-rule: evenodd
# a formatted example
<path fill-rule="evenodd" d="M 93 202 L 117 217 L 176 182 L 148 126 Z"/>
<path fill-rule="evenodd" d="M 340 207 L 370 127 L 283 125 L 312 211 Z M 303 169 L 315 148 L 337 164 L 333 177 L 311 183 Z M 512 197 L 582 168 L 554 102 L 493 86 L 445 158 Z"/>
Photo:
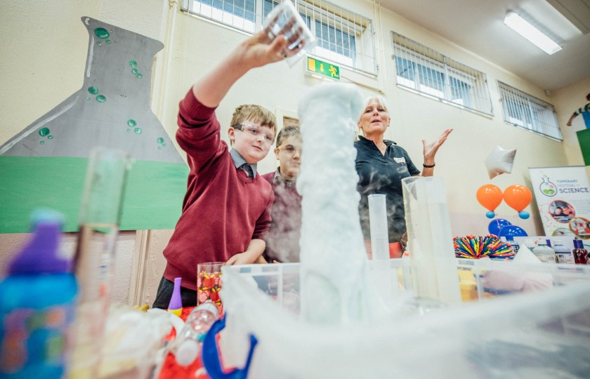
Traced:
<path fill-rule="evenodd" d="M 202 340 L 218 317 L 217 307 L 212 302 L 204 302 L 190 312 L 172 347 L 178 364 L 188 366 L 197 359 Z"/>

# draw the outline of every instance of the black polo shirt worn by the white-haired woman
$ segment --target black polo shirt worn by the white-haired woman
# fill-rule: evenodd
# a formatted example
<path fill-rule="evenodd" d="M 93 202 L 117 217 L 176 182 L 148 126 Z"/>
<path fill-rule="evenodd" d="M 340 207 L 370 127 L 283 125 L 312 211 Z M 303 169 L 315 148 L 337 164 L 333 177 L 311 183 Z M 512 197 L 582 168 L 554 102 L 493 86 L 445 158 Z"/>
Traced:
<path fill-rule="evenodd" d="M 359 176 L 357 189 L 360 193 L 358 211 L 362 234 L 365 239 L 371 239 L 369 194 L 385 194 L 389 242 L 397 242 L 406 230 L 402 179 L 419 175 L 420 171 L 409 159 L 405 149 L 393 141 L 384 142 L 387 145 L 385 155 L 381 154 L 372 140 L 359 136 L 355 142 L 355 164 Z"/>

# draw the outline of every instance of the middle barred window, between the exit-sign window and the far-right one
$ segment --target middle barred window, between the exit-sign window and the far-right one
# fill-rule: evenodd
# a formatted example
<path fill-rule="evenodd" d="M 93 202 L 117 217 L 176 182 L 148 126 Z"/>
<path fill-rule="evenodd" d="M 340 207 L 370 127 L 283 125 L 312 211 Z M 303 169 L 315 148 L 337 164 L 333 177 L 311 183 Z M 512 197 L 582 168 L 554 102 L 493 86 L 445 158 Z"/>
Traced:
<path fill-rule="evenodd" d="M 451 105 L 493 114 L 483 72 L 395 32 L 391 37 L 398 86 Z"/>

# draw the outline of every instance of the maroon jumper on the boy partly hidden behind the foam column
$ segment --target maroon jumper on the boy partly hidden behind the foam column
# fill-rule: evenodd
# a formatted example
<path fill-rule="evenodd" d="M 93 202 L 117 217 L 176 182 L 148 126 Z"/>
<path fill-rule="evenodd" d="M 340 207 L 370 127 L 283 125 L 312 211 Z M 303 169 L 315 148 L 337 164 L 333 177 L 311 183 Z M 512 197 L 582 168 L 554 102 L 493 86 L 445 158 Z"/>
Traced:
<path fill-rule="evenodd" d="M 273 260 L 299 262 L 301 195 L 295 189 L 295 181 L 281 178 L 279 170 L 262 175 L 275 192 L 273 210 L 270 212 L 273 222 L 265 239 L 264 258 L 270 263 Z"/>

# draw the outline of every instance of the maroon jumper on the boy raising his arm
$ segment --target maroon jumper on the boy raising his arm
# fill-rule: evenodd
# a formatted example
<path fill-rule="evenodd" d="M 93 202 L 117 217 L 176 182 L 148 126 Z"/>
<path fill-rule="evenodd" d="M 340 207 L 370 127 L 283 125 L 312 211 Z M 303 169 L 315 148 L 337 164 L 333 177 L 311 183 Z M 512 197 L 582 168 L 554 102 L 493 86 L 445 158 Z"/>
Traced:
<path fill-rule="evenodd" d="M 190 172 L 181 218 L 164 249 L 164 278 L 182 277 L 182 286 L 193 291 L 197 263 L 225 262 L 246 251 L 251 239 L 265 237 L 274 199 L 260 175 L 247 178 L 235 167 L 214 111 L 191 89 L 178 112 L 176 140 L 187 153 Z"/>

